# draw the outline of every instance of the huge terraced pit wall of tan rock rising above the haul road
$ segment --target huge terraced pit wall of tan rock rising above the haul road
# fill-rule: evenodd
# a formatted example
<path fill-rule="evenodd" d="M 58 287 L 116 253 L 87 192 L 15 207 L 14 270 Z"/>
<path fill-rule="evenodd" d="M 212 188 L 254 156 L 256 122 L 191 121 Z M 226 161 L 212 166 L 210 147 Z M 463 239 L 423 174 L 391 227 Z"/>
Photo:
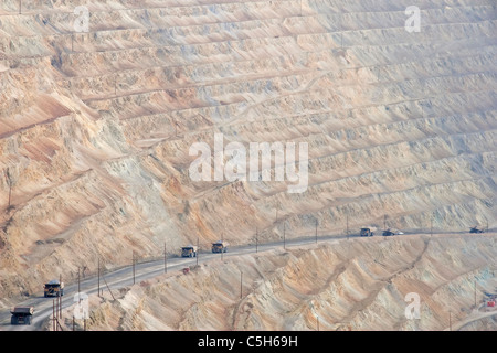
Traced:
<path fill-rule="evenodd" d="M 19 3 L 0 6 L 2 298 L 165 240 L 341 234 L 385 214 L 496 225 L 493 0 L 417 1 L 420 32 L 398 0 Z M 214 133 L 308 143 L 306 191 L 193 181 L 190 148 Z"/>

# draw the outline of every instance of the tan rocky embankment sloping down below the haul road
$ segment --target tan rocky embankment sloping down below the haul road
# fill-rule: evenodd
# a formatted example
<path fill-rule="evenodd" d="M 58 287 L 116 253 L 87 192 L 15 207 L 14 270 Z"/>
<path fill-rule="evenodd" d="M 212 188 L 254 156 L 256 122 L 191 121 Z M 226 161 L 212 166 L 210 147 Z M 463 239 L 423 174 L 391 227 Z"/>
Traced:
<path fill-rule="evenodd" d="M 485 291 L 497 290 L 496 240 L 495 234 L 374 237 L 226 257 L 124 288 L 116 300 L 92 296 L 86 325 L 316 330 L 319 317 L 320 330 L 444 330 L 451 311 L 456 328 L 475 315 L 475 298 L 479 307 Z M 404 314 L 411 292 L 420 296 L 416 320 Z M 64 311 L 67 329 L 73 310 Z M 463 329 L 497 329 L 491 318 L 470 322 Z"/>

